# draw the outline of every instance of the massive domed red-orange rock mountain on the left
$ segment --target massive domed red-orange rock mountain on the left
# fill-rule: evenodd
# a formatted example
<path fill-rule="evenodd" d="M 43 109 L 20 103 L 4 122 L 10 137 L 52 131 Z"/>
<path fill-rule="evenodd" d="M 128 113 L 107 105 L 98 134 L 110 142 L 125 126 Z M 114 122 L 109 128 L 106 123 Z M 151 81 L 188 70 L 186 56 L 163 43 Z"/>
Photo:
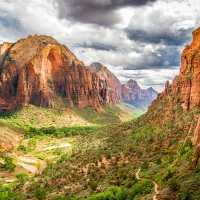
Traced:
<path fill-rule="evenodd" d="M 51 37 L 29 36 L 0 46 L 0 110 L 30 103 L 54 107 L 55 96 L 80 108 L 110 101 L 99 77 Z"/>

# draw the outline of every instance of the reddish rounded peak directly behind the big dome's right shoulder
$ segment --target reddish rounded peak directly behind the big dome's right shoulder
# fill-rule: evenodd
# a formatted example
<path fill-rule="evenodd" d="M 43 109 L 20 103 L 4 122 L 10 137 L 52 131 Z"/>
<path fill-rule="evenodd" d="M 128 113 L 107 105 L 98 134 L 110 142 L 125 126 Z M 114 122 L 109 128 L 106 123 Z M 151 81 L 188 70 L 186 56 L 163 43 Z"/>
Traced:
<path fill-rule="evenodd" d="M 119 102 L 122 97 L 122 85 L 119 79 L 111 73 L 106 67 L 104 67 L 100 63 L 92 63 L 88 69 L 95 73 L 101 80 L 101 82 L 107 86 L 108 95 L 112 99 L 113 102 Z"/>

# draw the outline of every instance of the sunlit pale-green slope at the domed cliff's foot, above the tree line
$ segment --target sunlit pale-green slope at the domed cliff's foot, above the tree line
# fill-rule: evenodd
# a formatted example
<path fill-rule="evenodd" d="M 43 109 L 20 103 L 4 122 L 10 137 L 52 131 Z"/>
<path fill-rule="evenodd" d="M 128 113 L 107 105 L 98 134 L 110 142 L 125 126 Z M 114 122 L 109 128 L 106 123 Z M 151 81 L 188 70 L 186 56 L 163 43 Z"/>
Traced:
<path fill-rule="evenodd" d="M 23 129 L 26 127 L 107 125 L 119 123 L 127 116 L 129 119 L 134 117 L 133 113 L 129 114 L 128 110 L 115 105 L 104 106 L 101 110 L 89 106 L 83 109 L 65 107 L 55 110 L 30 104 L 5 116 L 4 123 L 7 121 L 7 123 L 15 124 Z"/>

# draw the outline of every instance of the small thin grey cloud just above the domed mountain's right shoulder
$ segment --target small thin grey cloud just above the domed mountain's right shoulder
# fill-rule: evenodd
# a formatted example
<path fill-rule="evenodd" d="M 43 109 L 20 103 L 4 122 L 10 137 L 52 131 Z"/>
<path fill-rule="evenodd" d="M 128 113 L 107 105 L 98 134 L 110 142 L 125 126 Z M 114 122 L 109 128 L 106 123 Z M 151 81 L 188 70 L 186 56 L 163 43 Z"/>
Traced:
<path fill-rule="evenodd" d="M 83 47 L 83 48 L 91 48 L 95 50 L 102 50 L 102 51 L 117 51 L 117 47 L 115 47 L 114 45 L 102 44 L 99 42 L 90 43 L 90 44 L 87 44 L 86 42 L 84 42 L 83 44 L 77 45 L 77 46 Z"/>

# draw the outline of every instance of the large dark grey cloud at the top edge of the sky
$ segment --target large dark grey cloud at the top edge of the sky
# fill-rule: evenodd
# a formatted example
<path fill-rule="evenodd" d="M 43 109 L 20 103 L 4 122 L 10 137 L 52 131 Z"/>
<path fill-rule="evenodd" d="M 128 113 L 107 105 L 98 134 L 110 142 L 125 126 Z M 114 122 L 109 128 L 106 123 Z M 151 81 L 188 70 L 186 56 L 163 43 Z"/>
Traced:
<path fill-rule="evenodd" d="M 117 10 L 127 6 L 144 6 L 157 0 L 55 0 L 60 18 L 81 23 L 112 26 L 121 21 Z"/>

